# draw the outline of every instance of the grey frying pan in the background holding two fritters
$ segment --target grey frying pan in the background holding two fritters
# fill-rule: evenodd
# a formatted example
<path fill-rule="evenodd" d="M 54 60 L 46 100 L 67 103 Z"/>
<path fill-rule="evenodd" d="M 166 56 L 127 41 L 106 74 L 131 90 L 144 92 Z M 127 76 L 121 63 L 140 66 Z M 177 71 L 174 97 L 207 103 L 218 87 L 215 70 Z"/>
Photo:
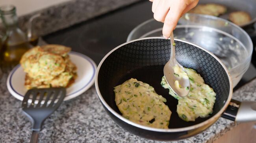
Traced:
<path fill-rule="evenodd" d="M 227 12 L 219 17 L 228 20 L 228 15 L 234 11 L 245 11 L 250 14 L 252 20 L 242 28 L 251 27 L 256 22 L 256 0 L 199 0 L 199 4 L 221 4 L 227 7 Z"/>

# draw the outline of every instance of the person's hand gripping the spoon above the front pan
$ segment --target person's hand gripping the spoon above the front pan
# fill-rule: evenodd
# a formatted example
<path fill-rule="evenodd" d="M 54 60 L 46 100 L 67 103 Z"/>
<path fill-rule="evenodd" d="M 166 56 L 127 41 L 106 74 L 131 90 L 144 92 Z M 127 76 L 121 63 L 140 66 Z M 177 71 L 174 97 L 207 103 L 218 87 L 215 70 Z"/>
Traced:
<path fill-rule="evenodd" d="M 149 0 L 153 2 L 154 18 L 163 22 L 163 37 L 168 39 L 179 18 L 195 7 L 199 0 Z"/>

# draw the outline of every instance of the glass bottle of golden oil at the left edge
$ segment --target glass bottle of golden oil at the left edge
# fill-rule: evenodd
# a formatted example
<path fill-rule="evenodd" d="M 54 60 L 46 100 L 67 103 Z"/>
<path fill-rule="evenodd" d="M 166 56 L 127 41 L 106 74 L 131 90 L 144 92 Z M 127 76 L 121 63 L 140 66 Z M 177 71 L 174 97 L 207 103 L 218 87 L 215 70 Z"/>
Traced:
<path fill-rule="evenodd" d="M 6 28 L 2 39 L 0 58 L 3 67 L 13 67 L 19 63 L 21 56 L 30 49 L 26 34 L 18 27 L 16 8 L 13 5 L 0 7 L 0 16 Z"/>

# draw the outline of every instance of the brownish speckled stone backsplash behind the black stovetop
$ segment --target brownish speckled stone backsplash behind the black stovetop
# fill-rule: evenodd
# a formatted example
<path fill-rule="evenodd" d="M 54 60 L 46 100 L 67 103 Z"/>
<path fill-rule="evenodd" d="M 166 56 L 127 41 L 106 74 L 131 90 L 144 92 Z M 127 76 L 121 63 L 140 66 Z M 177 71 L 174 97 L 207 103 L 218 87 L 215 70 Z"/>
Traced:
<path fill-rule="evenodd" d="M 95 16 L 141 0 L 74 0 L 19 17 L 19 26 L 26 31 L 28 20 L 34 14 L 41 16 L 33 21 L 39 35 L 45 35 L 78 24 Z"/>

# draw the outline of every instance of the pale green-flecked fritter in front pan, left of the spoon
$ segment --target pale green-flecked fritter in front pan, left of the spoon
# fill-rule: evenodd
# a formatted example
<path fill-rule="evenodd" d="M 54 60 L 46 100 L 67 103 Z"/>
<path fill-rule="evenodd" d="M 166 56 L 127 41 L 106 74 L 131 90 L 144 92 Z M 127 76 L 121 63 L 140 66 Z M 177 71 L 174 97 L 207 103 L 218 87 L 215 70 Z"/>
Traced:
<path fill-rule="evenodd" d="M 114 87 L 115 103 L 124 118 L 135 123 L 168 129 L 171 111 L 166 99 L 147 83 L 134 78 Z"/>

